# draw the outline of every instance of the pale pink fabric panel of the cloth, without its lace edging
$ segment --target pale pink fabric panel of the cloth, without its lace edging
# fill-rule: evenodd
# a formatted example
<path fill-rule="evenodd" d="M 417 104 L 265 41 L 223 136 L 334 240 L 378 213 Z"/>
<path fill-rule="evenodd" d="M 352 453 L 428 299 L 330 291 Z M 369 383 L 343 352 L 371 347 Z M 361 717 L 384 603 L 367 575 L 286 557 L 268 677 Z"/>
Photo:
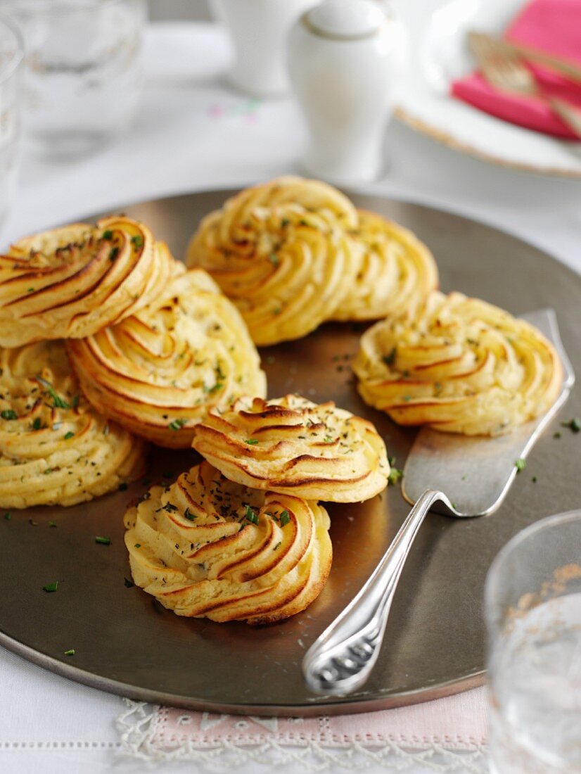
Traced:
<path fill-rule="evenodd" d="M 239 717 L 159 707 L 149 745 L 157 751 L 265 745 L 482 750 L 487 741 L 484 687 L 393 710 L 335 717 Z"/>

